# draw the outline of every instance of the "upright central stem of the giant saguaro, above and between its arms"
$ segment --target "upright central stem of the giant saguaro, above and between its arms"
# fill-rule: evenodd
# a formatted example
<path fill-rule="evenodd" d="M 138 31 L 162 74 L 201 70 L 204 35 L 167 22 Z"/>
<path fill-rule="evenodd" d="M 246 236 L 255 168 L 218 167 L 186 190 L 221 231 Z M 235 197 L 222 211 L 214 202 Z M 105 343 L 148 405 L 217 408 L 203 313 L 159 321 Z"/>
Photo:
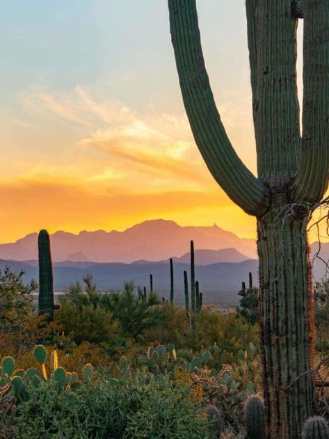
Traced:
<path fill-rule="evenodd" d="M 291 15 L 291 0 L 271 3 L 260 0 L 256 22 L 254 110 L 257 111 L 258 177 L 276 195 L 293 182 L 300 154 L 296 83 L 298 19 Z"/>

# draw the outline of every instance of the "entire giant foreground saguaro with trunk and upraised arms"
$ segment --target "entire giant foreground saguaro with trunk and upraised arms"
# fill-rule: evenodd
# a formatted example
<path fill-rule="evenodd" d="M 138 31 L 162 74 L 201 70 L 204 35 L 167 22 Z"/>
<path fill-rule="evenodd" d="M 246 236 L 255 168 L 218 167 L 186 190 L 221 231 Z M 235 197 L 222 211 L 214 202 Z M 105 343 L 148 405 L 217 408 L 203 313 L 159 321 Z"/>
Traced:
<path fill-rule="evenodd" d="M 246 0 L 255 177 L 216 109 L 195 0 L 168 0 L 170 32 L 195 143 L 227 195 L 257 218 L 266 437 L 300 438 L 312 415 L 313 311 L 307 222 L 328 187 L 329 1 Z M 296 28 L 304 19 L 303 136 Z"/>

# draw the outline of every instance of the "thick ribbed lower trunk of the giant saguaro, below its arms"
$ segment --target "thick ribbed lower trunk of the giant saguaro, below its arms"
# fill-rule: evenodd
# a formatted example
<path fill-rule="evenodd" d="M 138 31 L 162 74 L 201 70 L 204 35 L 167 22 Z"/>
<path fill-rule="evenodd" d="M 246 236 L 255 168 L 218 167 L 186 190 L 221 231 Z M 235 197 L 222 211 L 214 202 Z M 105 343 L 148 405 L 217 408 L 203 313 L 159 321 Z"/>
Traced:
<path fill-rule="evenodd" d="M 314 320 L 305 218 L 258 221 L 260 324 L 268 437 L 298 438 L 312 415 Z"/>

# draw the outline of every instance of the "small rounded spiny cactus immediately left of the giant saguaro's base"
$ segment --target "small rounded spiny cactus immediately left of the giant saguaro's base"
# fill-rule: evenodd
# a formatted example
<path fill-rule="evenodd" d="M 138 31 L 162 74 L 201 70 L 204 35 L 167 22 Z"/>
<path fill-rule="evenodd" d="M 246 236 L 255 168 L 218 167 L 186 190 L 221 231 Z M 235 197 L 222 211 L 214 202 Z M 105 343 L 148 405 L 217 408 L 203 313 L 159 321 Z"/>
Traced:
<path fill-rule="evenodd" d="M 243 410 L 246 422 L 247 438 L 265 438 L 264 401 L 257 397 L 257 395 L 252 395 L 246 400 Z"/>

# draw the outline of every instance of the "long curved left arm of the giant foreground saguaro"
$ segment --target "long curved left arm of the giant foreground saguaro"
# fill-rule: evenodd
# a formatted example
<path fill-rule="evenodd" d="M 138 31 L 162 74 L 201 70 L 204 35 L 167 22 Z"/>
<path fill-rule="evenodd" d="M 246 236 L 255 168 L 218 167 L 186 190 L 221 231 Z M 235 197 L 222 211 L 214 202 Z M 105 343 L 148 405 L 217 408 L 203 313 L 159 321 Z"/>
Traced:
<path fill-rule="evenodd" d="M 267 209 L 266 186 L 237 156 L 225 132 L 204 65 L 195 0 L 168 0 L 170 33 L 184 106 L 211 174 L 248 214 Z"/>

